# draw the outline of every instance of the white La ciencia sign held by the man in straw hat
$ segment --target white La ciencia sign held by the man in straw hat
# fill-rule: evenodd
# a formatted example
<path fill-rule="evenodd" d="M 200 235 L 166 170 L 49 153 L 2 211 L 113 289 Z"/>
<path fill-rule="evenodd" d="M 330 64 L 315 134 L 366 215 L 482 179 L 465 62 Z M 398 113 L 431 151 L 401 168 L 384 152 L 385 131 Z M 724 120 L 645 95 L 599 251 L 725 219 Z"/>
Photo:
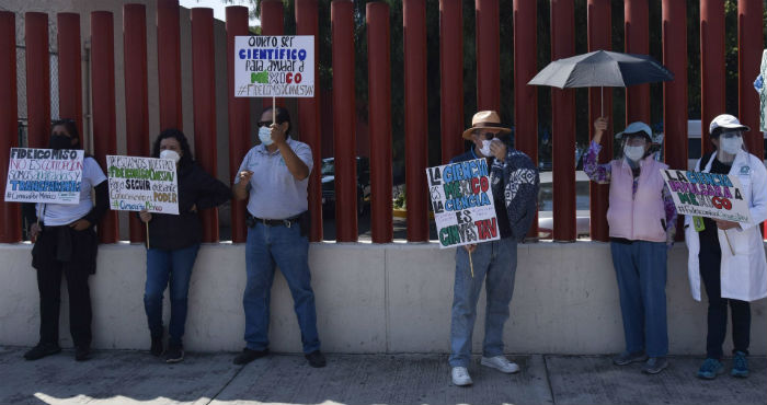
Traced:
<path fill-rule="evenodd" d="M 501 239 L 484 159 L 426 167 L 439 247 Z"/>

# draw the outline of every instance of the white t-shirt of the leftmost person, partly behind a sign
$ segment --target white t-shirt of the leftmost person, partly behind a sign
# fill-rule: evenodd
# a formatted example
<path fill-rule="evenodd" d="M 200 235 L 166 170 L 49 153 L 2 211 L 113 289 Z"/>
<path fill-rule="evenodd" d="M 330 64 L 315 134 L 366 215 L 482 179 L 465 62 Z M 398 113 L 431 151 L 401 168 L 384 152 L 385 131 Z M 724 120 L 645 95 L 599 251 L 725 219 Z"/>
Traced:
<path fill-rule="evenodd" d="M 49 227 L 72 223 L 84 217 L 93 208 L 91 189 L 104 182 L 106 176 L 93 158 L 82 161 L 82 182 L 80 183 L 80 202 L 73 204 L 37 204 L 37 216 L 43 213 L 43 222 Z"/>

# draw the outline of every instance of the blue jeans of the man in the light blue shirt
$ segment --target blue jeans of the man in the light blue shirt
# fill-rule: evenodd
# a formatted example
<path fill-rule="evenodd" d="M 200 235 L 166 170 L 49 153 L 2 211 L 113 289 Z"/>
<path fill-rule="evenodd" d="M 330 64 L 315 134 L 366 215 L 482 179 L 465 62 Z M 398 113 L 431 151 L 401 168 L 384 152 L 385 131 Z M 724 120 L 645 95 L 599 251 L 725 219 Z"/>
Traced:
<path fill-rule="evenodd" d="M 248 228 L 245 266 L 248 284 L 242 297 L 245 311 L 245 342 L 251 350 L 268 348 L 270 300 L 275 264 L 285 276 L 294 310 L 301 329 L 304 352 L 320 349 L 317 332 L 314 291 L 309 273 L 309 241 L 301 236 L 300 227 L 268 227 L 257 223 Z"/>

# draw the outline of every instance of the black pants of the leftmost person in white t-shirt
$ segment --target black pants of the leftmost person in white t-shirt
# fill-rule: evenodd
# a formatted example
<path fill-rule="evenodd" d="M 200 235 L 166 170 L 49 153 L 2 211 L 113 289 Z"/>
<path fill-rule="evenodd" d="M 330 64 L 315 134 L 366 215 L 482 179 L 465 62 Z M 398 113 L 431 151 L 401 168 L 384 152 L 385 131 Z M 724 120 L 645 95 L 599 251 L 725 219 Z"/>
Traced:
<path fill-rule="evenodd" d="M 58 344 L 58 319 L 61 303 L 61 274 L 69 292 L 69 329 L 75 346 L 91 344 L 91 292 L 87 270 L 53 262 L 37 270 L 39 289 L 39 342 Z"/>

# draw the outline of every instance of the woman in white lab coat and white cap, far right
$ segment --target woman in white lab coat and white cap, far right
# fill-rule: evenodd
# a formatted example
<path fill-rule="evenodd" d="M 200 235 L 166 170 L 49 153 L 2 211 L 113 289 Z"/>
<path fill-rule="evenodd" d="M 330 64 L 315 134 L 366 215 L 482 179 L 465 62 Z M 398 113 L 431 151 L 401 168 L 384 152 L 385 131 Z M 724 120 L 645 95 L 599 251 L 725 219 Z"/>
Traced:
<path fill-rule="evenodd" d="M 713 118 L 709 134 L 716 150 L 705 154 L 695 170 L 736 177 L 743 186 L 742 196 L 748 205 L 751 222 L 685 216 L 690 291 L 692 298 L 700 301 L 702 280 L 709 298 L 706 360 L 698 370 L 698 377 L 706 380 L 724 372 L 722 345 L 728 329 L 728 305 L 732 313 L 734 346 L 730 374 L 748 377 L 748 302 L 767 297 L 767 263 L 759 232 L 759 223 L 767 220 L 767 170 L 759 158 L 744 149 L 743 135 L 749 130 L 732 115 Z"/>

